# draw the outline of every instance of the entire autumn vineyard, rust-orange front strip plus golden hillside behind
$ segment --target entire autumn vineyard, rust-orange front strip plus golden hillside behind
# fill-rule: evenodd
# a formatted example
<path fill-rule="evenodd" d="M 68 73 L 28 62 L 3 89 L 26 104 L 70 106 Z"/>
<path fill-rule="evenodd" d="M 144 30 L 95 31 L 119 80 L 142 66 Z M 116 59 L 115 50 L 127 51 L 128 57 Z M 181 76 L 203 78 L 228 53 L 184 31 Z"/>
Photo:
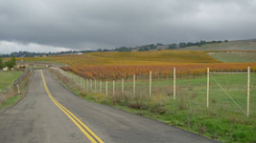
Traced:
<path fill-rule="evenodd" d="M 18 60 L 65 64 L 62 70 L 93 79 L 148 76 L 150 71 L 152 77 L 172 77 L 174 68 L 177 76 L 205 75 L 206 68 L 211 72 L 245 72 L 247 67 L 256 71 L 256 63 L 221 63 L 204 51 L 90 52 Z"/>

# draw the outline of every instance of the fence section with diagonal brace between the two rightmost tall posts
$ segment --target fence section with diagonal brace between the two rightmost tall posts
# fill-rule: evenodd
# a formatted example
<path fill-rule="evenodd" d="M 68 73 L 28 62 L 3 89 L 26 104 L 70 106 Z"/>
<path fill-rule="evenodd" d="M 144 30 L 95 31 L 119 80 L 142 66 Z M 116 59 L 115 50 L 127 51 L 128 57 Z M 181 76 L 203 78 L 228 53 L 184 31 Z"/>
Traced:
<path fill-rule="evenodd" d="M 216 112 L 246 115 L 247 74 L 211 74 L 209 96 Z"/>

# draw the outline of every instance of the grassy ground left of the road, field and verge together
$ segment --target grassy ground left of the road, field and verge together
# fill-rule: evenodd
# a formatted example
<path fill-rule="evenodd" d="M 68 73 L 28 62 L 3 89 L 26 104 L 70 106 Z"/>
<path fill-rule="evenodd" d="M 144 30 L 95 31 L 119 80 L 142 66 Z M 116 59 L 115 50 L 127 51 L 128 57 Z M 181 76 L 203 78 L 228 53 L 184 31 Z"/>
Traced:
<path fill-rule="evenodd" d="M 12 85 L 22 73 L 20 71 L 0 72 L 0 85 L 4 89 L 4 92 L 0 92 L 0 111 L 17 103 L 27 92 L 31 73 L 28 73 L 19 83 L 20 93 L 17 93 L 16 87 Z"/>

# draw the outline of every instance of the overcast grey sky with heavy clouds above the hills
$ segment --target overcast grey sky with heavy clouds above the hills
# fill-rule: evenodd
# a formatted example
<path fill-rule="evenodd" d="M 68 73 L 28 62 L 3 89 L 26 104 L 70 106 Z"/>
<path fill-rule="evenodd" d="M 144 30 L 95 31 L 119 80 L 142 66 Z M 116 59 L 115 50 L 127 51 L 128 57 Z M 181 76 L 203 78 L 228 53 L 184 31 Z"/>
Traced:
<path fill-rule="evenodd" d="M 0 0 L 0 53 L 256 38 L 256 0 Z"/>

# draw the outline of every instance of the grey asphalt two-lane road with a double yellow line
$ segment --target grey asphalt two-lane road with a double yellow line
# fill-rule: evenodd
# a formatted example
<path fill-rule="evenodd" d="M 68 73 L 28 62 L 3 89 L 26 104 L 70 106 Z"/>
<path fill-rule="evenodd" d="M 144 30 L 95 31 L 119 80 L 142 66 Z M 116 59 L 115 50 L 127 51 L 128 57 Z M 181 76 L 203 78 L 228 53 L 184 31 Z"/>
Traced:
<path fill-rule="evenodd" d="M 66 90 L 50 72 L 43 73 L 45 84 L 41 72 L 35 71 L 24 99 L 0 113 L 0 143 L 214 142 L 158 121 L 83 100 Z"/>

